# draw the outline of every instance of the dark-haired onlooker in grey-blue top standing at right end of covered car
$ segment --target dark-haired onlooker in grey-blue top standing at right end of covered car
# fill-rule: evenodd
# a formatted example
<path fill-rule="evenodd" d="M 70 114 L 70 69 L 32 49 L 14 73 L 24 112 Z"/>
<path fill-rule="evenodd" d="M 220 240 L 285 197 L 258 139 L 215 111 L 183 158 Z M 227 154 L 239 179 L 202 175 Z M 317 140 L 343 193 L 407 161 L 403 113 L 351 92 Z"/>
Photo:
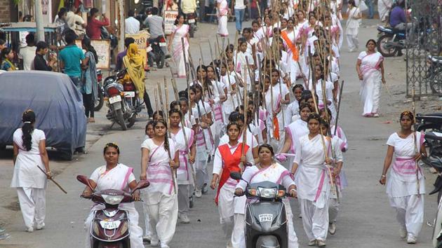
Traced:
<path fill-rule="evenodd" d="M 94 103 L 98 99 L 98 83 L 97 83 L 97 62 L 98 55 L 95 48 L 91 45 L 91 40 L 84 38 L 81 41 L 81 47 L 86 50 L 84 54 L 86 67 L 83 67 L 83 87 L 81 93 L 83 94 L 83 105 L 88 123 L 95 123 L 93 108 Z"/>

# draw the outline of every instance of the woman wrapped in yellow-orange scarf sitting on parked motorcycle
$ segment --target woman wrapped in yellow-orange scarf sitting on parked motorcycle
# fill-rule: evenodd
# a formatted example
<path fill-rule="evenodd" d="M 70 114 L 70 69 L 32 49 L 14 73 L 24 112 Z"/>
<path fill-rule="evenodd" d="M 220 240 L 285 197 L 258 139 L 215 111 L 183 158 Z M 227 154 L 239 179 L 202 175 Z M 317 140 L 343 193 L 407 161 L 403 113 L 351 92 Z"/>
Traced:
<path fill-rule="evenodd" d="M 138 97 L 144 99 L 147 113 L 149 118 L 152 118 L 154 111 L 150 104 L 149 94 L 146 91 L 145 85 L 145 61 L 143 57 L 138 53 L 138 45 L 132 43 L 129 45 L 126 56 L 123 57 L 124 67 L 127 69 L 127 74 L 124 76 L 123 81 L 132 81 L 135 88 L 138 90 Z"/>

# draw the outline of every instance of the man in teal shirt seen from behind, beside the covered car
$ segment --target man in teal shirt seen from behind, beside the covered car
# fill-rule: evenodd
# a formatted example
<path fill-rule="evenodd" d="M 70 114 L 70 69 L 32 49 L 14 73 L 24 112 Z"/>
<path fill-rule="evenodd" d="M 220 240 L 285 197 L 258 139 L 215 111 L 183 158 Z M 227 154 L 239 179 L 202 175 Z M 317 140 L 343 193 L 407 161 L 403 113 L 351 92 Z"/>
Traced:
<path fill-rule="evenodd" d="M 65 41 L 67 46 L 60 51 L 60 69 L 65 69 L 65 74 L 69 76 L 78 90 L 81 90 L 81 68 L 86 67 L 83 50 L 75 44 L 76 34 L 67 32 Z"/>

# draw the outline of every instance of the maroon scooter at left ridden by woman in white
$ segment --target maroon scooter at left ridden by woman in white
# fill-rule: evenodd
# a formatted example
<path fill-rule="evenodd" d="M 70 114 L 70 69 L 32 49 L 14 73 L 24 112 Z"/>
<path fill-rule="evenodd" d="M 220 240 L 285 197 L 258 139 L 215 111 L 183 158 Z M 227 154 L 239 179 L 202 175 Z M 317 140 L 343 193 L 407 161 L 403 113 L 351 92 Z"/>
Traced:
<path fill-rule="evenodd" d="M 86 176 L 77 176 L 76 179 L 93 191 Z M 133 189 L 147 188 L 149 181 L 141 180 Z M 83 196 L 81 196 L 83 198 Z M 93 192 L 93 202 L 105 205 L 105 209 L 97 210 L 91 221 L 91 247 L 114 248 L 130 247 L 130 220 L 126 210 L 119 209 L 119 205 L 133 202 L 132 195 L 126 191 L 106 189 Z"/>

